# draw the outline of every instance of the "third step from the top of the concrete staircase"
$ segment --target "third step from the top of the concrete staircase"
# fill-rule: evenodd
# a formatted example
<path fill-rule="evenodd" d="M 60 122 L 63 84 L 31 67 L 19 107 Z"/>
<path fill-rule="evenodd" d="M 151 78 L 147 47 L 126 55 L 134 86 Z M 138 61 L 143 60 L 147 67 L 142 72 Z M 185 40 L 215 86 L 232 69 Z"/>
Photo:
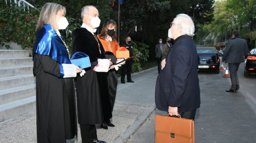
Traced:
<path fill-rule="evenodd" d="M 33 65 L 0 67 L 0 77 L 33 73 Z"/>

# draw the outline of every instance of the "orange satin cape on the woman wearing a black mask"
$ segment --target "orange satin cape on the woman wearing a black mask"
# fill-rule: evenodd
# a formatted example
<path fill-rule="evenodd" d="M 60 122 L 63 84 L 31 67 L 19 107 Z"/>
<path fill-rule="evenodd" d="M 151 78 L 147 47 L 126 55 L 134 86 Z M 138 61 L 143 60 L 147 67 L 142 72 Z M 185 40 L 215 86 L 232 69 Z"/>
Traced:
<path fill-rule="evenodd" d="M 108 51 L 107 45 L 110 46 L 110 41 L 108 40 L 107 43 L 106 43 L 106 39 L 100 37 L 99 34 L 97 35 L 97 37 L 100 40 L 100 43 L 102 44 L 104 50 Z M 116 40 L 115 41 L 112 40 L 111 41 L 111 51 L 110 52 L 112 52 L 116 57 L 117 57 L 116 52 L 117 52 L 117 49 L 119 49 L 119 48 L 120 48 L 120 46 L 119 46 L 118 42 Z"/>

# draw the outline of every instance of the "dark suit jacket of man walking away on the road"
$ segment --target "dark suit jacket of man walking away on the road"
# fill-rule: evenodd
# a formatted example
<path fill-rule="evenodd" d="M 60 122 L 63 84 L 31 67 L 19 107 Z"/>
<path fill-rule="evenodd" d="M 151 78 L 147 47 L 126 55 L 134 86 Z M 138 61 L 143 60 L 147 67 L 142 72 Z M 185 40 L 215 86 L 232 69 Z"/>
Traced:
<path fill-rule="evenodd" d="M 239 37 L 231 39 L 222 56 L 225 63 L 241 63 L 244 62 L 244 56 L 248 53 L 248 46 L 244 39 Z"/>

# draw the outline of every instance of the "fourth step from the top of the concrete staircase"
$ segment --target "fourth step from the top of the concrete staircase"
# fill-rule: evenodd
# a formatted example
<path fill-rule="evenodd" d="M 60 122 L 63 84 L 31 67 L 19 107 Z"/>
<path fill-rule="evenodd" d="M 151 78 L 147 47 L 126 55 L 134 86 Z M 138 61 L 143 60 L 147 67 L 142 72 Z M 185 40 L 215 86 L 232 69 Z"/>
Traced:
<path fill-rule="evenodd" d="M 2 77 L 0 78 L 0 90 L 33 83 L 35 83 L 33 74 Z"/>

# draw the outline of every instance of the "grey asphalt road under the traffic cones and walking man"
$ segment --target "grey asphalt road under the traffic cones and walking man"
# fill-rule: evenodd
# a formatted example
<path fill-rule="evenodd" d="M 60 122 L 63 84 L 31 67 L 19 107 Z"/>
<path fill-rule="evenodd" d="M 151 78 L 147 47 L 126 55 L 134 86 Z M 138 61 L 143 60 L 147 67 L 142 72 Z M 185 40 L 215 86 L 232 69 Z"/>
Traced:
<path fill-rule="evenodd" d="M 227 66 L 227 64 L 224 64 Z M 244 77 L 244 63 L 238 70 L 240 89 L 230 89 L 230 78 L 214 72 L 198 72 L 201 106 L 195 117 L 196 143 L 255 143 L 256 142 L 256 75 Z M 155 115 L 165 112 L 156 110 L 134 133 L 127 143 L 155 142 Z"/>

